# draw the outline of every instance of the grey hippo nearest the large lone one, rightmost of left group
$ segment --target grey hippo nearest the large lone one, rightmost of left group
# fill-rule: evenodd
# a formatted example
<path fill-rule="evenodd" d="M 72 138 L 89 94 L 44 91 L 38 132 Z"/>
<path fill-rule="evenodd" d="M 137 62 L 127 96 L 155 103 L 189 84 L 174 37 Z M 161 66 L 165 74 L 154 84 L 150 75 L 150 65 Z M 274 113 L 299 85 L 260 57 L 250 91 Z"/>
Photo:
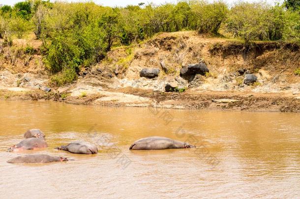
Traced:
<path fill-rule="evenodd" d="M 69 151 L 71 153 L 94 154 L 98 153 L 98 148 L 89 142 L 71 142 L 66 146 L 60 146 L 56 149 Z"/>

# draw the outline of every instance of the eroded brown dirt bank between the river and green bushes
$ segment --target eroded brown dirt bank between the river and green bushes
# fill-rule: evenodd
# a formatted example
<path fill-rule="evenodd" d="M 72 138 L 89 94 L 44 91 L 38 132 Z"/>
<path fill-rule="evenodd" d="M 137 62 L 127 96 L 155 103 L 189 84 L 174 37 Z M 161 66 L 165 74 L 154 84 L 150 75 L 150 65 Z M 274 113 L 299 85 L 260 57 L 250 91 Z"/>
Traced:
<path fill-rule="evenodd" d="M 23 42 L 23 43 L 22 43 Z M 39 55 L 3 49 L 0 58 L 1 100 L 54 100 L 94 106 L 300 112 L 300 49 L 295 44 L 257 42 L 245 46 L 195 32 L 163 33 L 139 45 L 112 50 L 70 85 L 55 86 Z M 188 64 L 209 72 L 182 76 Z M 143 69 L 159 70 L 141 77 Z M 245 77 L 257 78 L 245 84 Z M 166 92 L 166 85 L 177 92 Z M 50 90 L 51 89 L 51 90 Z M 183 91 L 183 92 L 182 92 Z"/>

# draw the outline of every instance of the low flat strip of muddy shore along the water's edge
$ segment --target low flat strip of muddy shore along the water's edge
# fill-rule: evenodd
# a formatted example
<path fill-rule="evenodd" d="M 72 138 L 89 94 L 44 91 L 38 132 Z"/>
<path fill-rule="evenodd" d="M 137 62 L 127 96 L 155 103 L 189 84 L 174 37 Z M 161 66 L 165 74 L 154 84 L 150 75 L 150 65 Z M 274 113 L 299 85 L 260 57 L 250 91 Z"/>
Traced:
<path fill-rule="evenodd" d="M 101 94 L 102 93 L 102 94 Z M 228 111 L 267 111 L 300 113 L 300 98 L 274 93 L 191 92 L 165 93 L 142 89 L 118 89 L 76 96 L 76 94 L 45 93 L 42 90 L 0 90 L 0 100 L 51 100 L 96 107 L 149 107 L 165 109 L 200 109 Z"/>

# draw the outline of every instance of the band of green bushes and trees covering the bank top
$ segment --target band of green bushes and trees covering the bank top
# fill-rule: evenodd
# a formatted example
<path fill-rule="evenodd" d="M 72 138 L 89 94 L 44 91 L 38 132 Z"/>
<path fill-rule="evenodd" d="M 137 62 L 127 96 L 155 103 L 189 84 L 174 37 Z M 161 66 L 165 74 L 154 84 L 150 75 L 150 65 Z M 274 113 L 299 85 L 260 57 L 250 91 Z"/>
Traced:
<path fill-rule="evenodd" d="M 2 46 L 12 38 L 34 32 L 43 43 L 41 53 L 52 80 L 72 82 L 81 68 L 99 62 L 113 47 L 131 45 L 158 32 L 197 30 L 219 36 L 252 40 L 299 41 L 299 1 L 238 2 L 185 0 L 176 4 L 105 7 L 92 2 L 66 3 L 27 0 L 0 7 Z"/>

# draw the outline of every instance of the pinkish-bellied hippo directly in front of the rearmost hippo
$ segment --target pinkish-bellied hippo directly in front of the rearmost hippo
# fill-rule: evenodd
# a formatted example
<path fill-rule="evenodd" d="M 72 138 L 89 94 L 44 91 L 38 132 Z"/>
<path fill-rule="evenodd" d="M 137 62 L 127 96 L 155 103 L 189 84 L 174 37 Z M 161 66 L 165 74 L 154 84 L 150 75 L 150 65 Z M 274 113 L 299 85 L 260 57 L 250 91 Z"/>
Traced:
<path fill-rule="evenodd" d="M 17 145 L 13 145 L 8 148 L 8 152 L 16 152 L 23 150 L 31 150 L 36 148 L 45 148 L 47 147 L 47 143 L 42 138 L 28 138 L 18 143 Z"/>

